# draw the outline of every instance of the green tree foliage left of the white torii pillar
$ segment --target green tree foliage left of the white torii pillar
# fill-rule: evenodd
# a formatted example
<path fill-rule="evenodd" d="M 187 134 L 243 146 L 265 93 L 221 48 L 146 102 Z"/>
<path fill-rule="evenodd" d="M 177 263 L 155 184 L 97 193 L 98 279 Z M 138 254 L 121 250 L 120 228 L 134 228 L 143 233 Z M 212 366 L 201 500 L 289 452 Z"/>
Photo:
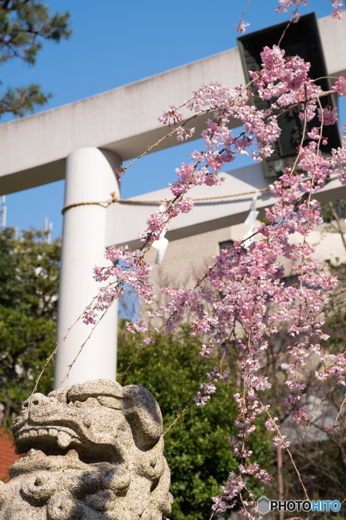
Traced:
<path fill-rule="evenodd" d="M 51 244 L 43 231 L 13 228 L 0 232 L 0 402 L 2 426 L 9 427 L 32 392 L 54 349 L 58 304 L 60 240 Z M 52 388 L 53 365 L 39 391 Z"/>

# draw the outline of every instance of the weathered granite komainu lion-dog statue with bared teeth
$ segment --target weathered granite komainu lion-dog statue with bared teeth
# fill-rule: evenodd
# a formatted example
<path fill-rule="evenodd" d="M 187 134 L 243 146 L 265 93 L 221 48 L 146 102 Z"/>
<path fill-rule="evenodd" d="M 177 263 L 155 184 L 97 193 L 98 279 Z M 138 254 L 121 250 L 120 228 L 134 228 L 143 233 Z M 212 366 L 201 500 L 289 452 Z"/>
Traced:
<path fill-rule="evenodd" d="M 161 520 L 171 512 L 162 416 L 142 386 L 100 379 L 34 394 L 13 425 L 27 452 L 0 483 L 0 520 Z"/>

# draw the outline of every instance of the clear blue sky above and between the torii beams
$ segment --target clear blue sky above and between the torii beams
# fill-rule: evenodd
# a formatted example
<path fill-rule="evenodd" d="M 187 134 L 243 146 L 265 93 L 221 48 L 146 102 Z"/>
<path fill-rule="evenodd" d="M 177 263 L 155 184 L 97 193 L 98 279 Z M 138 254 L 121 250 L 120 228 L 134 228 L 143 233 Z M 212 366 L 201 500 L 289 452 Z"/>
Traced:
<path fill-rule="evenodd" d="M 45 92 L 51 92 L 53 98 L 45 109 L 236 47 L 238 34 L 234 25 L 241 18 L 246 0 L 220 2 L 214 4 L 216 8 L 206 0 L 102 0 L 98 3 L 49 0 L 46 3 L 51 14 L 70 11 L 74 31 L 70 40 L 59 45 L 44 42 L 35 67 L 13 60 L 0 69 L 2 87 L 34 82 Z M 277 4 L 278 0 L 251 0 L 244 17 L 250 23 L 248 31 L 285 21 L 287 15 L 275 13 Z M 311 0 L 301 12 L 307 14 L 313 10 L 318 18 L 328 16 L 331 2 Z M 339 119 L 346 121 L 344 99 Z M 194 141 L 138 161 L 121 181 L 122 197 L 167 186 L 174 180 L 175 167 L 188 160 L 196 146 Z M 241 159 L 233 163 L 234 167 L 249 163 L 244 156 Z M 7 225 L 19 229 L 42 228 L 48 217 L 53 223 L 53 236 L 59 236 L 63 199 L 64 181 L 12 193 L 6 198 Z"/>

